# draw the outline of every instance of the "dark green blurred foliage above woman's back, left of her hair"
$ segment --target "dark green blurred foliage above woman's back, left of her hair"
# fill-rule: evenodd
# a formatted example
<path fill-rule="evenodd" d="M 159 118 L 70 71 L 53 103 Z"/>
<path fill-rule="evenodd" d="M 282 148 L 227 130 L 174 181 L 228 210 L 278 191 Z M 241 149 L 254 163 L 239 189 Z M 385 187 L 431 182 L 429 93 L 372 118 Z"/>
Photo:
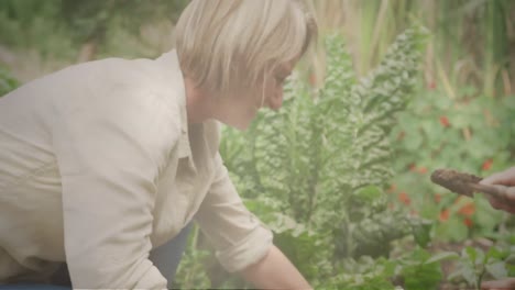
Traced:
<path fill-rule="evenodd" d="M 97 51 L 111 44 L 111 38 L 118 41 L 118 34 L 124 34 L 127 41 L 140 35 L 143 24 L 174 23 L 186 3 L 186 0 L 2 0 L 0 44 L 34 48 L 43 57 L 69 60 L 79 57 L 80 47 L 89 44 L 94 47 L 88 58 L 94 58 Z"/>

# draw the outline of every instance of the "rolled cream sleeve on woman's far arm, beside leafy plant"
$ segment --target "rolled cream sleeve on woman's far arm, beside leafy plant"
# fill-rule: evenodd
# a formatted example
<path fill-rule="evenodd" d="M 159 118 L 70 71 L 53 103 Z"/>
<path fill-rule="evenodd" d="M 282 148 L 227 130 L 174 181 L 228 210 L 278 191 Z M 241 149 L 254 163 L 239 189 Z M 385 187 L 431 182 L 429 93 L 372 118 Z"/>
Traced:
<path fill-rule="evenodd" d="M 219 154 L 217 175 L 196 220 L 216 248 L 220 264 L 240 271 L 263 258 L 272 246 L 272 232 L 244 207 Z"/>

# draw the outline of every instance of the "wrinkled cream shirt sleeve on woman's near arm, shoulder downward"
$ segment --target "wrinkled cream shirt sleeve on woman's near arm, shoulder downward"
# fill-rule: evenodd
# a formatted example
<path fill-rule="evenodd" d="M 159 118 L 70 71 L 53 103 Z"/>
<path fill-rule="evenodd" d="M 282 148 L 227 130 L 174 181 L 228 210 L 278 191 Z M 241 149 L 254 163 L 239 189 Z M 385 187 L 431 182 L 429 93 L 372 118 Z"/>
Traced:
<path fill-rule="evenodd" d="M 149 259 L 156 179 L 179 126 L 156 96 L 117 88 L 58 108 L 65 254 L 74 288 L 165 289 Z"/>

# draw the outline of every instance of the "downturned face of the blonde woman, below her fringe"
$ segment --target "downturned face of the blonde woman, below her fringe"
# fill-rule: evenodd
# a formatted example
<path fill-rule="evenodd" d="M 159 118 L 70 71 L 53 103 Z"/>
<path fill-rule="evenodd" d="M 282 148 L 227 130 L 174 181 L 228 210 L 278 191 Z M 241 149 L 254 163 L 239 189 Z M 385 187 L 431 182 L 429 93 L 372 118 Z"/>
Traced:
<path fill-rule="evenodd" d="M 295 64 L 296 62 L 283 64 L 266 74 L 262 80 L 262 91 L 242 92 L 239 96 L 227 98 L 230 100 L 220 103 L 218 119 L 230 126 L 245 130 L 261 108 L 267 107 L 277 111 L 283 104 L 284 81 L 292 74 Z"/>

